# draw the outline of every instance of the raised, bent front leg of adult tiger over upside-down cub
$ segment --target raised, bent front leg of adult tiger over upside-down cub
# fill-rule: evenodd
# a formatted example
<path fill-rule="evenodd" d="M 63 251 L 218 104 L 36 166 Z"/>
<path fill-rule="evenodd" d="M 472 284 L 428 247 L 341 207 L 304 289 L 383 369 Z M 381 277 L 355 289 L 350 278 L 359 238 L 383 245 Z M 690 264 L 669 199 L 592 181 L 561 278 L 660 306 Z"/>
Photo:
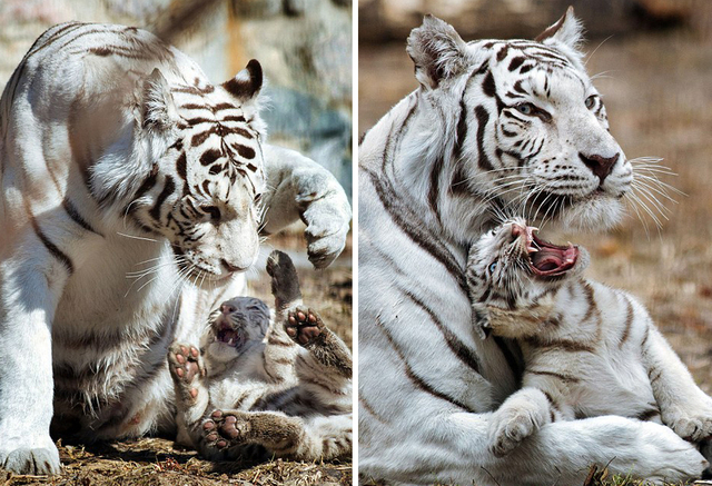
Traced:
<path fill-rule="evenodd" d="M 327 267 L 346 244 L 352 209 L 344 188 L 324 167 L 303 155 L 266 145 L 264 231 L 274 234 L 301 220 L 307 226 L 307 254 L 316 268 Z"/>

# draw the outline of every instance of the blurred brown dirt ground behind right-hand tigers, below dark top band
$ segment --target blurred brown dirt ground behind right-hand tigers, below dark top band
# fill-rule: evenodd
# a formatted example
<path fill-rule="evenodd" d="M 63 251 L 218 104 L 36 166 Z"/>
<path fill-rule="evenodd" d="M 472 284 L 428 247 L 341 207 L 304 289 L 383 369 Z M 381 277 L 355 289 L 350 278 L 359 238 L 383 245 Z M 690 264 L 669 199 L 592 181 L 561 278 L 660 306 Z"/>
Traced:
<path fill-rule="evenodd" d="M 684 30 L 591 41 L 586 67 L 603 93 L 611 132 L 626 156 L 661 157 L 678 176 L 661 180 L 684 192 L 662 199 L 656 229 L 634 209 L 604 235 L 562 235 L 592 254 L 587 275 L 631 291 L 708 394 L 712 393 L 712 46 Z M 388 72 L 388 76 L 384 76 Z M 359 49 L 359 132 L 417 86 L 403 43 Z M 641 210 L 641 212 L 643 212 Z M 645 228 L 647 226 L 647 229 Z"/>

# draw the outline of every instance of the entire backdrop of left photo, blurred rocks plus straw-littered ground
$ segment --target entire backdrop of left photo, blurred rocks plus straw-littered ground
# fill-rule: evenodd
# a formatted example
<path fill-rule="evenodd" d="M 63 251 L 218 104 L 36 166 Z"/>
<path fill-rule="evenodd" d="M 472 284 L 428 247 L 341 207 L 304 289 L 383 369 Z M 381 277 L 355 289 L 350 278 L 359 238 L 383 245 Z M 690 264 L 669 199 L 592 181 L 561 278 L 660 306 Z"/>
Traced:
<path fill-rule="evenodd" d="M 214 83 L 233 78 L 250 59 L 259 60 L 266 76 L 263 93 L 269 100 L 261 113 L 269 141 L 326 167 L 350 198 L 350 0 L 0 0 L 0 90 L 34 39 L 69 20 L 149 30 L 192 58 Z M 286 250 L 297 266 L 305 304 L 350 346 L 350 235 L 342 256 L 316 271 L 306 258 L 303 230 L 299 222 L 263 244 L 261 257 L 248 274 L 249 294 L 271 305 L 265 260 L 273 248 Z M 161 438 L 59 446 L 61 484 L 352 484 L 350 462 L 215 464 Z M 8 478 L 8 484 L 57 480 Z"/>

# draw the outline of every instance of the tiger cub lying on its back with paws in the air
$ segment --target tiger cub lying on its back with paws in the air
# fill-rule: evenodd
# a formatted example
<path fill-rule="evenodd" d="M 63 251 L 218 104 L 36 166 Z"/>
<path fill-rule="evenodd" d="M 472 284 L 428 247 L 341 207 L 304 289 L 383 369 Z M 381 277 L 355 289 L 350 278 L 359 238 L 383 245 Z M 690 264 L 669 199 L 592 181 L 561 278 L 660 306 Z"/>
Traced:
<path fill-rule="evenodd" d="M 200 350 L 171 346 L 178 440 L 210 459 L 254 455 L 254 446 L 298 460 L 348 457 L 352 354 L 301 305 L 286 254 L 273 251 L 267 272 L 274 321 L 264 301 L 237 297 L 210 315 Z"/>

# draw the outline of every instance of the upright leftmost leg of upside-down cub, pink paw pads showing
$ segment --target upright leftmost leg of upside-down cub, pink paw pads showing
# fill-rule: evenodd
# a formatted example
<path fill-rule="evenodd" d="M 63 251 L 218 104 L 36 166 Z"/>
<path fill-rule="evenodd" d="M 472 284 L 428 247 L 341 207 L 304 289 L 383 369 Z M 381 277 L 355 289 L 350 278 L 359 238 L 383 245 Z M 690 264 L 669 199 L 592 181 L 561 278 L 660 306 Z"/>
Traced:
<path fill-rule="evenodd" d="M 176 390 L 179 444 L 198 445 L 200 423 L 210 401 L 204 383 L 206 369 L 200 351 L 188 344 L 174 343 L 168 350 L 168 368 Z"/>

